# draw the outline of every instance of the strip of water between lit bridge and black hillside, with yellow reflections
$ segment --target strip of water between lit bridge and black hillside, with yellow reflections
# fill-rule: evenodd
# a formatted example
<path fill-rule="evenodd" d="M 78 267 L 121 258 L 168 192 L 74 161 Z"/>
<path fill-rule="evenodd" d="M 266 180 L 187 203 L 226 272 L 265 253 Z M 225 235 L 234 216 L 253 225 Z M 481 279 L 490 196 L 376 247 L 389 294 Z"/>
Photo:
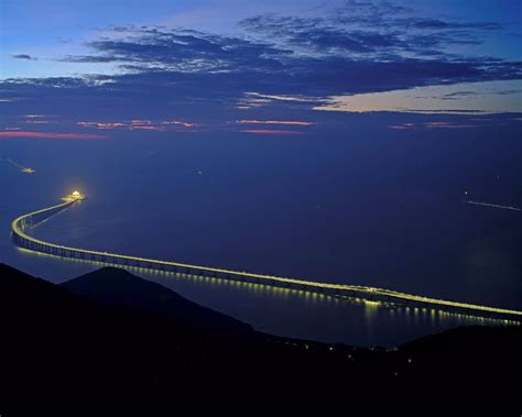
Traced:
<path fill-rule="evenodd" d="M 101 262 L 61 259 L 20 248 L 17 251 L 48 264 L 75 265 L 81 271 L 79 273 L 112 266 Z M 171 288 L 198 304 L 248 322 L 257 330 L 325 342 L 393 345 L 456 326 L 516 323 L 511 320 L 329 296 L 210 276 L 134 266 L 121 267 Z"/>

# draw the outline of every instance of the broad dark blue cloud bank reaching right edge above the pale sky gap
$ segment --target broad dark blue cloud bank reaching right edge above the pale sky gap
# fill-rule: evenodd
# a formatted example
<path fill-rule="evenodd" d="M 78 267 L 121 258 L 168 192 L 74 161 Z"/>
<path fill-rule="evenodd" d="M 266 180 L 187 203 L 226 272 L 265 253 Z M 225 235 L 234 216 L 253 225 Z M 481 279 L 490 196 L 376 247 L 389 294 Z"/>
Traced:
<path fill-rule="evenodd" d="M 63 61 L 117 63 L 124 74 L 109 76 L 110 83 L 146 83 L 149 77 L 181 90 L 181 84 L 186 83 L 196 95 L 205 89 L 217 90 L 219 95 L 227 95 L 225 89 L 228 96 L 249 95 L 239 101 L 241 108 L 274 100 L 317 100 L 333 92 L 522 77 L 520 62 L 445 52 L 450 45 L 480 43 L 476 25 L 458 33 L 425 34 L 395 26 L 390 30 L 389 25 L 346 28 L 339 18 L 279 15 L 250 18 L 240 25 L 262 36 L 242 39 L 189 30 L 119 28 L 115 39 L 87 43 L 94 54 L 66 56 Z"/>

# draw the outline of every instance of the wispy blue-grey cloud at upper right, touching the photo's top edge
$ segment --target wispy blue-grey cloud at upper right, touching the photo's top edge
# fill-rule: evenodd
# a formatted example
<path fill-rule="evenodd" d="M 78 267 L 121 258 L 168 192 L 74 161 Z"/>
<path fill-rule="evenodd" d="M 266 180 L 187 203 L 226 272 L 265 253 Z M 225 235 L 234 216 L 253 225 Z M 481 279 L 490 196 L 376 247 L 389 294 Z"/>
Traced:
<path fill-rule="evenodd" d="M 426 19 L 407 8 L 372 2 L 347 2 L 327 17 L 261 14 L 242 20 L 240 28 L 300 53 L 379 59 L 445 54 L 453 45 L 481 44 L 485 34 L 503 29 L 497 22 Z"/>

